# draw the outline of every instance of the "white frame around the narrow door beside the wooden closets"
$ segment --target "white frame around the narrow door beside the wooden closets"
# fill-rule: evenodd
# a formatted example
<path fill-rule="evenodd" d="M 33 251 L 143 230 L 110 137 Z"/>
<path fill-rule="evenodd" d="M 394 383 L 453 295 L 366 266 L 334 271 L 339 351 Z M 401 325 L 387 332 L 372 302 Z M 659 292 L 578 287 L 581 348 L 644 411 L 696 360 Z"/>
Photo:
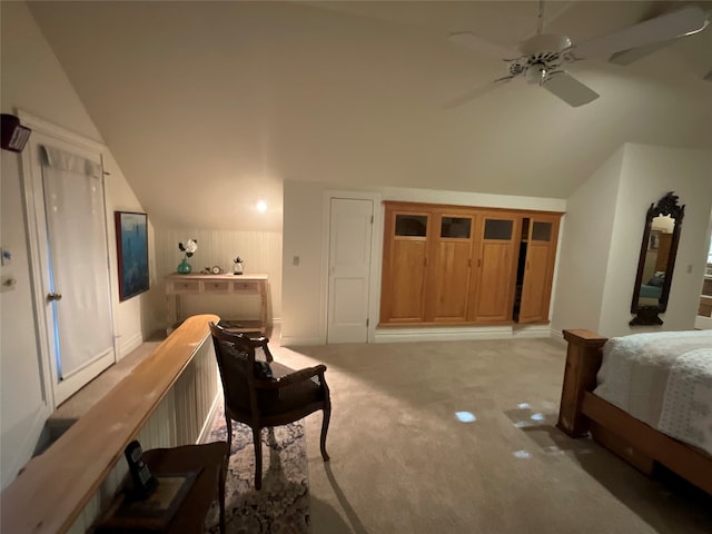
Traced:
<path fill-rule="evenodd" d="M 329 237 L 332 233 L 332 199 L 372 200 L 374 225 L 370 233 L 370 268 L 368 271 L 368 343 L 374 343 L 380 303 L 380 261 L 383 256 L 383 202 L 380 192 L 325 189 L 322 197 L 322 290 L 319 294 L 319 330 L 324 343 L 328 339 L 329 314 Z"/>

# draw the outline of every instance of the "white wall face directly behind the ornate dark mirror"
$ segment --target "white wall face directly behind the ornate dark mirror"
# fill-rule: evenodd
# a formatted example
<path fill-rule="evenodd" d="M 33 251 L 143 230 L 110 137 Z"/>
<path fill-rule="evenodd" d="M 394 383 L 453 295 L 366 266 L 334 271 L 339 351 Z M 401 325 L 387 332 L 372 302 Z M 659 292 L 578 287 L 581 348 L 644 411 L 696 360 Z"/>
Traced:
<path fill-rule="evenodd" d="M 712 210 L 712 152 L 645 145 L 625 145 L 621 186 L 609 254 L 609 276 L 597 332 L 622 336 L 646 330 L 694 327 L 700 284 L 706 263 L 706 236 Z M 668 310 L 662 327 L 630 327 L 630 306 L 645 214 L 668 191 L 685 205 Z"/>

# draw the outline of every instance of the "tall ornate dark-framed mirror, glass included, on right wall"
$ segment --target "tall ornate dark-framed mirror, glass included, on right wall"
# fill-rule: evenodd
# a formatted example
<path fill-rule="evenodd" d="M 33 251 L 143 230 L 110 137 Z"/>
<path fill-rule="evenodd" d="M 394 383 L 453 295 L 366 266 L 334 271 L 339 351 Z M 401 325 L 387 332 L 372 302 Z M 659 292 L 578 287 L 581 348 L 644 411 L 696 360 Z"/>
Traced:
<path fill-rule="evenodd" d="M 631 326 L 663 324 L 659 314 L 668 309 L 682 218 L 685 215 L 685 207 L 678 205 L 678 198 L 670 191 L 647 209 L 631 303 L 631 314 L 635 314 L 629 323 Z"/>

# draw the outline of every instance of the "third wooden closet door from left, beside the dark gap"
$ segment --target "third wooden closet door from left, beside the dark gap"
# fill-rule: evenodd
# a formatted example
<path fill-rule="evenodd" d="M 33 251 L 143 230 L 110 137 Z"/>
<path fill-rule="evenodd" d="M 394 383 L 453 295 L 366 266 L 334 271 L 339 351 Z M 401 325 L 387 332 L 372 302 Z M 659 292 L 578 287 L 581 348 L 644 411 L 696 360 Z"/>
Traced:
<path fill-rule="evenodd" d="M 469 320 L 504 323 L 512 320 L 516 236 L 516 216 L 483 215 L 479 217 L 476 266 Z"/>

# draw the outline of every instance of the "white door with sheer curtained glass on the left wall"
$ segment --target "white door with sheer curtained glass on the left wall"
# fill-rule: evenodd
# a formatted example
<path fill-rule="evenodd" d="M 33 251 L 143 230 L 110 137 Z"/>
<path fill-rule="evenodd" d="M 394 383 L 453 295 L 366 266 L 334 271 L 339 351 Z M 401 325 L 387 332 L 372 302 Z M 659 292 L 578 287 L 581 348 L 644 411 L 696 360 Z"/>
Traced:
<path fill-rule="evenodd" d="M 115 362 L 101 155 L 33 131 L 26 185 L 38 329 L 57 406 Z"/>

